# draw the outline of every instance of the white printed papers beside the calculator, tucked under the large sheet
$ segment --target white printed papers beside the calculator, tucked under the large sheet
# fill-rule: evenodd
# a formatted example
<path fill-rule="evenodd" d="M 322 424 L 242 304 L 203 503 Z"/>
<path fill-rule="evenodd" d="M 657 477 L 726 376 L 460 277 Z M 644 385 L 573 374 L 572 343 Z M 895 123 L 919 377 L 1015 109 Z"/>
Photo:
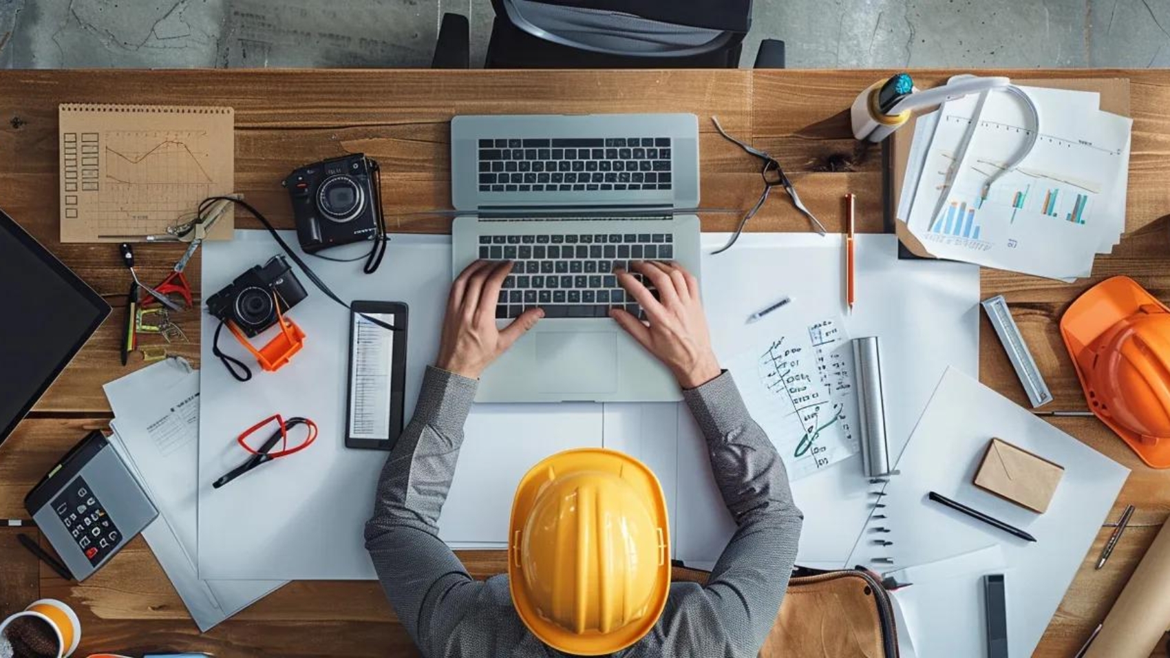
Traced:
<path fill-rule="evenodd" d="M 284 585 L 283 581 L 202 581 L 195 571 L 199 373 L 170 358 L 104 386 L 117 418 L 115 448 L 159 509 L 143 532 L 200 631 Z"/>

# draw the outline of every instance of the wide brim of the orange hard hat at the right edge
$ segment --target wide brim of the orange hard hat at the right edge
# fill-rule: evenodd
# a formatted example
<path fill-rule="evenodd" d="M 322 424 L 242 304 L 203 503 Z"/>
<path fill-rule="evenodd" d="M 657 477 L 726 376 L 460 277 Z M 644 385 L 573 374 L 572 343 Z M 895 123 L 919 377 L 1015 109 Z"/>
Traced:
<path fill-rule="evenodd" d="M 1142 307 L 1149 306 L 1170 313 L 1170 308 L 1129 276 L 1106 279 L 1086 290 L 1068 307 L 1060 318 L 1060 336 L 1065 341 L 1068 355 L 1073 358 L 1076 378 L 1081 383 L 1093 414 L 1116 432 L 1147 465 L 1154 468 L 1170 468 L 1170 441 L 1143 441 L 1140 434 L 1122 426 L 1108 413 L 1103 413 L 1092 399 L 1093 385 L 1085 371 L 1089 345 L 1115 324 L 1137 315 Z"/>

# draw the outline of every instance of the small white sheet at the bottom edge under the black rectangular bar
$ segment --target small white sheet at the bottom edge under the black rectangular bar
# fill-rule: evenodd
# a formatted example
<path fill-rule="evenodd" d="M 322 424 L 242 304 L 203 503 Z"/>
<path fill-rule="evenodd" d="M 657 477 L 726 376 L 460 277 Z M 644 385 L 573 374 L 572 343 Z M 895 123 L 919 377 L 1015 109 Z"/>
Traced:
<path fill-rule="evenodd" d="M 914 652 L 923 657 L 984 658 L 987 637 L 983 576 L 989 574 L 1005 575 L 1009 602 L 1018 605 L 1027 596 L 1007 570 L 1003 550 L 994 544 L 887 573 L 900 583 L 913 583 L 892 594 L 904 624 L 899 628 L 899 637 L 908 636 Z M 1009 609 L 1009 617 L 1013 612 Z M 1011 626 L 1007 632 L 1011 637 Z"/>

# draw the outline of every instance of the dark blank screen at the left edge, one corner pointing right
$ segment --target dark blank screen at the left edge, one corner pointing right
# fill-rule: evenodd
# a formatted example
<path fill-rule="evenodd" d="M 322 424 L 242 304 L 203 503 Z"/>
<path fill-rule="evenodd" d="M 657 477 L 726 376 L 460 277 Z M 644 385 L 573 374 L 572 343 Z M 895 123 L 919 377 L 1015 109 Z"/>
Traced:
<path fill-rule="evenodd" d="M 110 304 L 0 211 L 0 444 Z"/>

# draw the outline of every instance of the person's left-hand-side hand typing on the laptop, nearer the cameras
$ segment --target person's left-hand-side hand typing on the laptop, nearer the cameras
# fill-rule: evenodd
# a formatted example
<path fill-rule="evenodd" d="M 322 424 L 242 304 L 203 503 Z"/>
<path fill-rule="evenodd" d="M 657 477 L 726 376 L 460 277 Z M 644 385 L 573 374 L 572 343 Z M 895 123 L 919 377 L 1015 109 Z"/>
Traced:
<path fill-rule="evenodd" d="M 477 260 L 450 285 L 435 368 L 479 379 L 488 364 L 544 317 L 534 308 L 496 329 L 496 303 L 509 272 L 511 262 Z"/>

